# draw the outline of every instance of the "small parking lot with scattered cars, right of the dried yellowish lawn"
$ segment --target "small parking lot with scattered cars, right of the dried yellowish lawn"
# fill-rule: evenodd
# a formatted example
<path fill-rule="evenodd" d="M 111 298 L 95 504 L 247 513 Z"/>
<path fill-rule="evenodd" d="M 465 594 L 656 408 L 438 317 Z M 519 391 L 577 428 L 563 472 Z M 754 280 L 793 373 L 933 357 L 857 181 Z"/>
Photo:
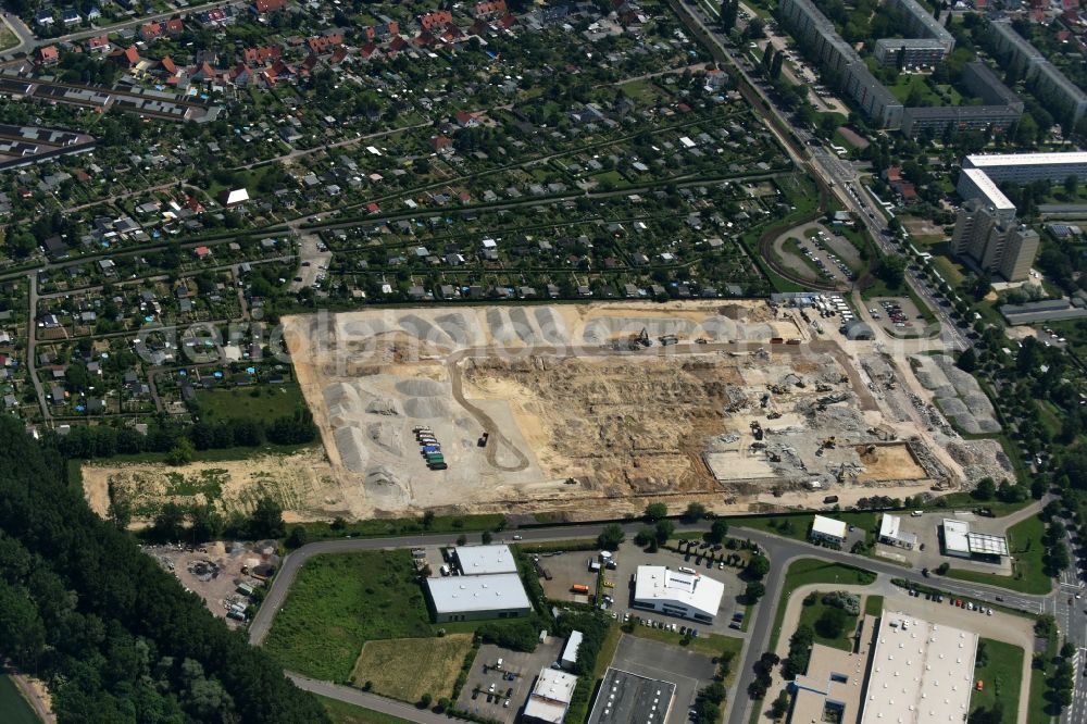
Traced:
<path fill-rule="evenodd" d="M 479 647 L 479 653 L 472 664 L 468 682 L 461 689 L 457 708 L 478 716 L 512 724 L 528 701 L 528 694 L 533 690 L 536 676 L 541 669 L 550 667 L 559 659 L 565 642 L 563 638 L 549 636 L 547 641 L 537 646 L 532 653 L 484 644 Z M 502 667 L 496 669 L 499 659 L 502 660 Z M 515 675 L 512 681 L 509 678 L 510 674 Z"/>

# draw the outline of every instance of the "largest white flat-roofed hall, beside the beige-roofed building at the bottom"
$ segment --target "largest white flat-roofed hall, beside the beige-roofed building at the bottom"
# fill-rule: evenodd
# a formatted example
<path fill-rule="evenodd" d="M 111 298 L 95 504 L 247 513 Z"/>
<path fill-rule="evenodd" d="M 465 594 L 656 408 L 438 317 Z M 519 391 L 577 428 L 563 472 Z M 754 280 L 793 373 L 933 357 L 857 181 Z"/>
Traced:
<path fill-rule="evenodd" d="M 961 724 L 974 690 L 977 634 L 884 611 L 861 724 Z"/>

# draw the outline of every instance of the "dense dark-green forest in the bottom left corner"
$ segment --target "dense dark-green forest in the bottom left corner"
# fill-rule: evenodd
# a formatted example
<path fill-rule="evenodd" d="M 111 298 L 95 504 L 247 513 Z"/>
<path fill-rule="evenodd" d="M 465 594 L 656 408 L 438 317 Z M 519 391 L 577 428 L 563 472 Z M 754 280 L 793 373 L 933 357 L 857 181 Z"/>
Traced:
<path fill-rule="evenodd" d="M 60 722 L 326 722 L 259 649 L 99 520 L 64 460 L 0 420 L 0 654 Z"/>

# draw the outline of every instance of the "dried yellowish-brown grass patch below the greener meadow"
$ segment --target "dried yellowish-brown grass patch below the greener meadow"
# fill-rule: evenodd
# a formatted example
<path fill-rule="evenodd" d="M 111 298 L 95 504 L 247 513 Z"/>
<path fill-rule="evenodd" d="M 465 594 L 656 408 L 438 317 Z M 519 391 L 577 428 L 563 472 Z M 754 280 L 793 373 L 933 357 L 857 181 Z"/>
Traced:
<path fill-rule="evenodd" d="M 464 657 L 472 650 L 472 634 L 441 638 L 398 638 L 366 641 L 351 672 L 351 683 L 370 682 L 375 694 L 409 703 L 424 694 L 437 701 L 452 695 Z"/>

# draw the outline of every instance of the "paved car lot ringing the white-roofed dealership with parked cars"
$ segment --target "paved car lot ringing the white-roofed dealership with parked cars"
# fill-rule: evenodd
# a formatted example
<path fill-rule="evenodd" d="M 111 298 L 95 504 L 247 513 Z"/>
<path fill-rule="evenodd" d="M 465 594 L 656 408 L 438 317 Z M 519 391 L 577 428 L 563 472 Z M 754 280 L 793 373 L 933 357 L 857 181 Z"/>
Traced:
<path fill-rule="evenodd" d="M 607 571 L 605 582 L 614 583 L 614 587 L 604 586 L 604 591 L 614 598 L 613 611 L 620 620 L 627 613 L 641 617 L 651 617 L 676 625 L 688 625 L 691 622 L 685 619 L 669 616 L 662 613 L 647 612 L 635 609 L 634 586 L 632 576 L 639 565 L 667 565 L 672 569 L 679 566 L 692 567 L 703 575 L 720 581 L 725 586 L 725 592 L 721 597 L 721 608 L 712 624 L 695 624 L 699 631 L 712 632 L 715 634 L 733 634 L 736 632 L 728 628 L 728 622 L 733 612 L 744 607 L 736 602 L 736 597 L 744 592 L 746 584 L 737 577 L 737 570 L 732 567 L 720 569 L 717 563 L 710 561 L 707 556 L 700 553 L 710 552 L 711 548 L 696 548 L 690 554 L 679 554 L 670 550 L 661 549 L 655 553 L 646 553 L 640 548 L 630 542 L 623 544 L 615 553 L 617 562 L 616 570 Z M 719 553 L 721 551 L 717 551 Z"/>

